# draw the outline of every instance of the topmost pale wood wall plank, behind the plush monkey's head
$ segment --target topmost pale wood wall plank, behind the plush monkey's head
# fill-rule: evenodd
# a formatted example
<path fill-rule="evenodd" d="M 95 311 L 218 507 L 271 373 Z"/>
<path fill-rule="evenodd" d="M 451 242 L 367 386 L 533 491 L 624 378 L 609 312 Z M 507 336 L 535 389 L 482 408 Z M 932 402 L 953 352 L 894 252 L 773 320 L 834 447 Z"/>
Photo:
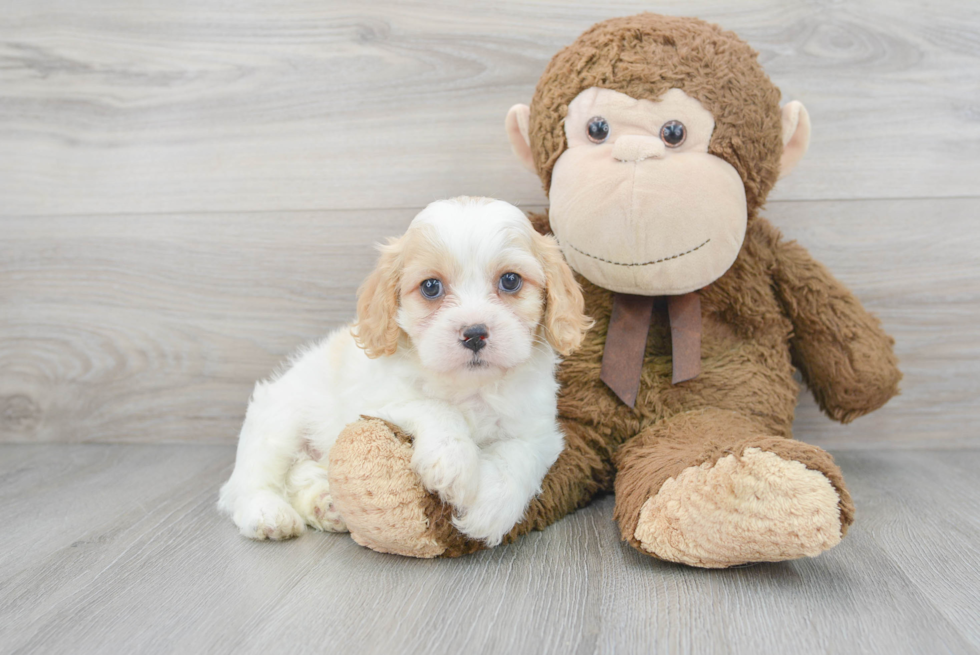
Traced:
<path fill-rule="evenodd" d="M 8 2 L 0 214 L 544 201 L 503 117 L 594 22 L 650 3 Z M 975 196 L 973 0 L 659 3 L 735 30 L 808 157 L 775 199 Z"/>

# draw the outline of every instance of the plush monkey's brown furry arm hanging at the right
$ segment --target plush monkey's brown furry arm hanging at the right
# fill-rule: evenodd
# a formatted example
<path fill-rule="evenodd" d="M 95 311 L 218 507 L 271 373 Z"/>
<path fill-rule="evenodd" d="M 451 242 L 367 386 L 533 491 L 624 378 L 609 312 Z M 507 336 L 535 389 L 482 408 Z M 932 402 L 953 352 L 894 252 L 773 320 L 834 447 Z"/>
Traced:
<path fill-rule="evenodd" d="M 793 322 L 793 363 L 820 408 L 848 423 L 884 405 L 902 378 L 895 340 L 802 246 L 773 246 L 776 292 Z"/>

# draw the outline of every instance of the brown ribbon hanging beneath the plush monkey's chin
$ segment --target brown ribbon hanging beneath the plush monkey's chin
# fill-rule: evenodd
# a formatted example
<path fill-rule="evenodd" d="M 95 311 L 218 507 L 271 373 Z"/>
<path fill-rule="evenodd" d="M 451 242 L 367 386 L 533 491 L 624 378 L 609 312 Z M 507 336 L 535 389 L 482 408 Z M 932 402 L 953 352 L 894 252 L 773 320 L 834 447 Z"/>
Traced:
<path fill-rule="evenodd" d="M 653 300 L 653 296 L 613 294 L 599 379 L 630 407 L 635 406 L 640 390 Z M 701 296 L 697 291 L 667 296 L 667 313 L 674 368 L 671 382 L 678 384 L 701 373 Z"/>

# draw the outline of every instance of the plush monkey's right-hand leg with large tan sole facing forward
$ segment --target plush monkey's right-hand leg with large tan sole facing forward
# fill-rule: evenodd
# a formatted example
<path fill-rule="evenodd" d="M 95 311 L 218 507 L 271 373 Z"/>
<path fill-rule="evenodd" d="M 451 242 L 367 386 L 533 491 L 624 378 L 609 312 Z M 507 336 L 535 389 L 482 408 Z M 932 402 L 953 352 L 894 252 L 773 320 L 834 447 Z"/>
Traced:
<path fill-rule="evenodd" d="M 766 434 L 735 412 L 678 414 L 616 455 L 623 538 L 659 559 L 705 568 L 817 555 L 841 540 L 854 505 L 825 451 Z"/>

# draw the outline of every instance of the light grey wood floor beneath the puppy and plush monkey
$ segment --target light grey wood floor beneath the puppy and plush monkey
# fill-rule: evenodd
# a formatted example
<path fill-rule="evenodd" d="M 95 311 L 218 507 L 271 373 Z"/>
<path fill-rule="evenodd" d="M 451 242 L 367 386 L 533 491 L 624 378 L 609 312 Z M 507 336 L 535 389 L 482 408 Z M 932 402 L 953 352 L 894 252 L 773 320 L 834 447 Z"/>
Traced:
<path fill-rule="evenodd" d="M 977 451 L 841 453 L 859 512 L 842 544 L 727 571 L 625 546 L 611 498 L 458 560 L 380 555 L 343 534 L 250 542 L 214 507 L 233 457 L 230 447 L 0 445 L 0 650 L 980 648 Z"/>

